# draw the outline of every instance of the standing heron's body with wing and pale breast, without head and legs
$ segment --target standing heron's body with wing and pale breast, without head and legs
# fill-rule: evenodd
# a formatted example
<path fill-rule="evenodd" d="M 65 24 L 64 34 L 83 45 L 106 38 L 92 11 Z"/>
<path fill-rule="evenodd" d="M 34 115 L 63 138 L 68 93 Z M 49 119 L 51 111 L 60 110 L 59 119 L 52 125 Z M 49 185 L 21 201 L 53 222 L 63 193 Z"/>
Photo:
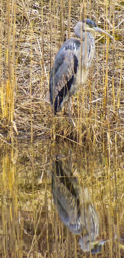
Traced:
<path fill-rule="evenodd" d="M 89 33 L 86 33 L 86 37 L 89 39 Z M 67 39 L 56 55 L 50 75 L 50 101 L 52 105 L 54 103 L 55 113 L 61 111 L 69 97 L 74 95 L 79 90 L 80 85 L 83 86 L 85 83 L 94 57 L 95 42 L 93 37 L 92 42 L 93 47 L 85 45 L 85 41 L 83 42 L 83 50 L 87 46 L 92 49 L 83 59 L 80 58 L 81 43 L 74 38 Z"/>

